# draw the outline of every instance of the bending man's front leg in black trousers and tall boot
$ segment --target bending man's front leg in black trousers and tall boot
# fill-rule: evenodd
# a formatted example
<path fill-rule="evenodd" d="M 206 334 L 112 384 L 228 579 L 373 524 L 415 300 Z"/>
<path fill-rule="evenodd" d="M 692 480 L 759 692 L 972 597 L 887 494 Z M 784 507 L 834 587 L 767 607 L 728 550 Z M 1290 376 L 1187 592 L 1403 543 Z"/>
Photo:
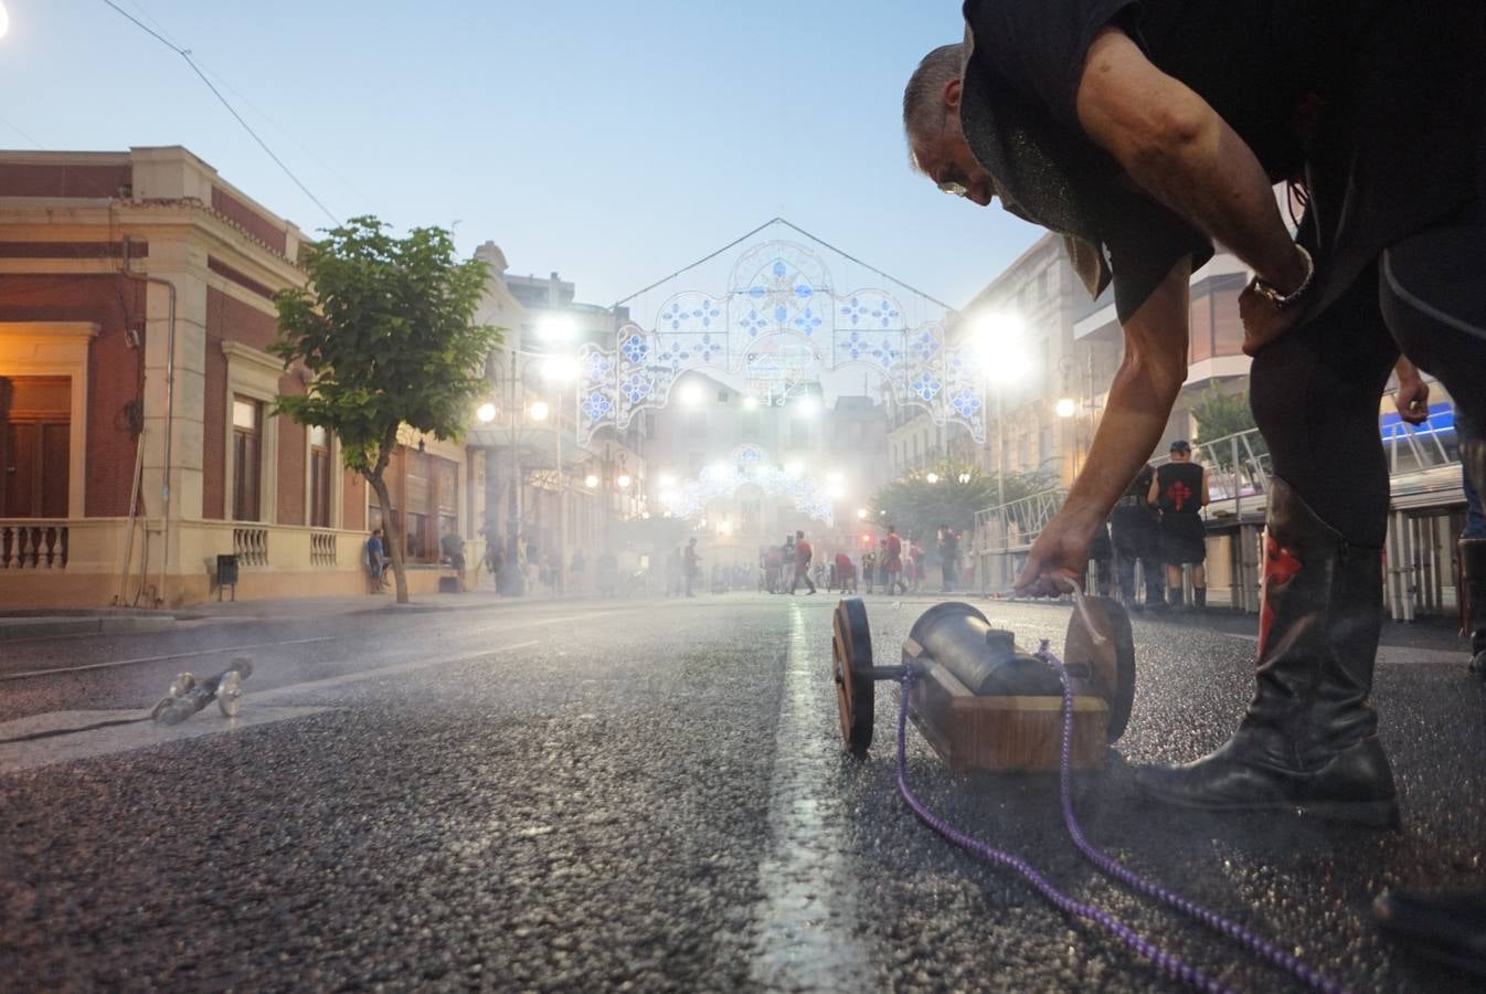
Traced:
<path fill-rule="evenodd" d="M 1367 704 L 1388 519 L 1378 398 L 1397 358 L 1376 293 L 1375 279 L 1358 281 L 1254 358 L 1254 418 L 1274 459 L 1256 692 L 1217 752 L 1140 773 L 1158 801 L 1398 817 Z"/>

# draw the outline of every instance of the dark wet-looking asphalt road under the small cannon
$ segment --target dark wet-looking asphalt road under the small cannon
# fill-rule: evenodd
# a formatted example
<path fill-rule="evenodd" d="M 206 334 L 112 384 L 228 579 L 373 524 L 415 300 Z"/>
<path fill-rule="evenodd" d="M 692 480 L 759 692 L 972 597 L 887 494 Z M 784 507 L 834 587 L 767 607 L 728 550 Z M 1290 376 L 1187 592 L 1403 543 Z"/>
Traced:
<path fill-rule="evenodd" d="M 896 663 L 927 602 L 868 605 Z M 0 643 L 0 740 L 256 663 L 236 725 L 211 709 L 0 743 L 0 990 L 1181 990 L 914 817 L 895 689 L 869 758 L 840 750 L 832 606 L 548 602 Z M 1061 645 L 1070 614 L 985 609 L 1022 645 Z M 1366 912 L 1392 883 L 1486 887 L 1486 685 L 1447 648 L 1383 651 L 1401 831 L 1152 808 L 1131 765 L 1217 746 L 1250 694 L 1247 623 L 1220 627 L 1135 621 L 1131 728 L 1076 782 L 1089 839 L 1354 990 L 1468 990 Z M 908 735 L 911 786 L 961 831 L 1233 990 L 1288 990 L 1101 877 L 1054 780 L 951 774 Z"/>

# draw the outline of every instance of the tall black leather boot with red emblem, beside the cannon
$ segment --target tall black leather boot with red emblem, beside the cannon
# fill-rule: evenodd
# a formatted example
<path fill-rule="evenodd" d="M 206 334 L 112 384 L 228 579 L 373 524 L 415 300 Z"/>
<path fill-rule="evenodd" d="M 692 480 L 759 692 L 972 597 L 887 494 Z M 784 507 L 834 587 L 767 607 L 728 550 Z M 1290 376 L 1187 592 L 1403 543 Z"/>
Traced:
<path fill-rule="evenodd" d="M 1380 550 L 1349 545 L 1274 480 L 1254 700 L 1217 752 L 1147 767 L 1138 789 L 1210 811 L 1397 823 L 1392 770 L 1367 706 L 1380 626 Z"/>

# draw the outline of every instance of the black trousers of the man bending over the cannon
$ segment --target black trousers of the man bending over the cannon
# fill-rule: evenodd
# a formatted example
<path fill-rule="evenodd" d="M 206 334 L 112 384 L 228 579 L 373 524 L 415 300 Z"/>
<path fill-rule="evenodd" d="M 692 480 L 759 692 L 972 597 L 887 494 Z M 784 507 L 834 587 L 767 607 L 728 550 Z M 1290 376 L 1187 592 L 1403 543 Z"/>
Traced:
<path fill-rule="evenodd" d="M 1486 201 L 1385 250 L 1333 306 L 1254 357 L 1250 398 L 1275 475 L 1355 545 L 1386 538 L 1378 403 L 1400 349 L 1449 391 L 1461 441 L 1486 441 L 1483 260 Z"/>

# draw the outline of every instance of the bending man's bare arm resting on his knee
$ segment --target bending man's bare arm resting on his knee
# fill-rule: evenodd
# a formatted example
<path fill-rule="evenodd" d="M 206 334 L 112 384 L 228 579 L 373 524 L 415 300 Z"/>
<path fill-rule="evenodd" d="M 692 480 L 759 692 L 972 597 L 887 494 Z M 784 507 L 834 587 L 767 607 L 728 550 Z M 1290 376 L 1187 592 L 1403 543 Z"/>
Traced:
<path fill-rule="evenodd" d="M 1253 150 L 1196 92 L 1117 28 L 1089 46 L 1079 123 L 1135 183 L 1288 293 L 1308 266 Z"/>

